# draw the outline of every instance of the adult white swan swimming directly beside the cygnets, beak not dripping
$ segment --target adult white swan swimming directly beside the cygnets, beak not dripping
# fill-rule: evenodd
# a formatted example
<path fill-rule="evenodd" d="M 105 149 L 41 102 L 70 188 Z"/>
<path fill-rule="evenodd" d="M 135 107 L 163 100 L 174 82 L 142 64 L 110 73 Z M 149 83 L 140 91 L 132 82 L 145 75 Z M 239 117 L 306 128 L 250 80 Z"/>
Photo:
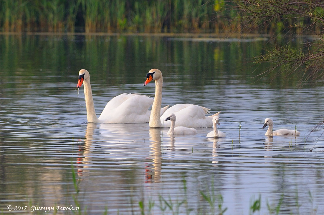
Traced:
<path fill-rule="evenodd" d="M 201 107 L 195 104 L 176 104 L 166 110 L 165 113 L 160 116 L 160 108 L 162 103 L 162 72 L 158 69 L 152 69 L 146 74 L 146 81 L 144 86 L 150 81 L 155 81 L 155 96 L 154 102 L 152 105 L 152 112 L 150 116 L 150 127 L 162 127 L 162 126 L 171 126 L 171 122 L 164 122 L 164 119 L 169 116 L 171 113 L 177 115 L 177 121 L 175 126 L 185 126 L 191 128 L 203 128 L 203 127 L 212 127 L 213 116 L 219 114 L 215 113 L 212 116 L 205 116 L 209 113 L 208 108 Z"/>

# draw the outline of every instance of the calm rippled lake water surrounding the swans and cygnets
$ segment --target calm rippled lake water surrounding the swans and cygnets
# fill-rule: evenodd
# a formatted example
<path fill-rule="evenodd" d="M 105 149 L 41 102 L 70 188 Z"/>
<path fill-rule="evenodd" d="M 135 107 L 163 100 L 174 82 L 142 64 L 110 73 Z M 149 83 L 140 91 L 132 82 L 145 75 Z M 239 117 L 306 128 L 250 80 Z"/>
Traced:
<path fill-rule="evenodd" d="M 251 58 L 269 47 L 264 38 L 1 35 L 0 213 L 72 205 L 141 214 L 143 202 L 145 214 L 253 214 L 260 198 L 256 214 L 323 214 L 322 82 L 297 90 L 298 75 L 258 76 L 270 65 Z M 170 137 L 148 124 L 86 123 L 80 69 L 90 72 L 99 116 L 118 94 L 153 97 L 154 83 L 143 86 L 152 68 L 163 73 L 162 106 L 222 111 L 227 137 L 205 137 L 212 128 Z M 301 136 L 264 136 L 267 117 Z"/>

